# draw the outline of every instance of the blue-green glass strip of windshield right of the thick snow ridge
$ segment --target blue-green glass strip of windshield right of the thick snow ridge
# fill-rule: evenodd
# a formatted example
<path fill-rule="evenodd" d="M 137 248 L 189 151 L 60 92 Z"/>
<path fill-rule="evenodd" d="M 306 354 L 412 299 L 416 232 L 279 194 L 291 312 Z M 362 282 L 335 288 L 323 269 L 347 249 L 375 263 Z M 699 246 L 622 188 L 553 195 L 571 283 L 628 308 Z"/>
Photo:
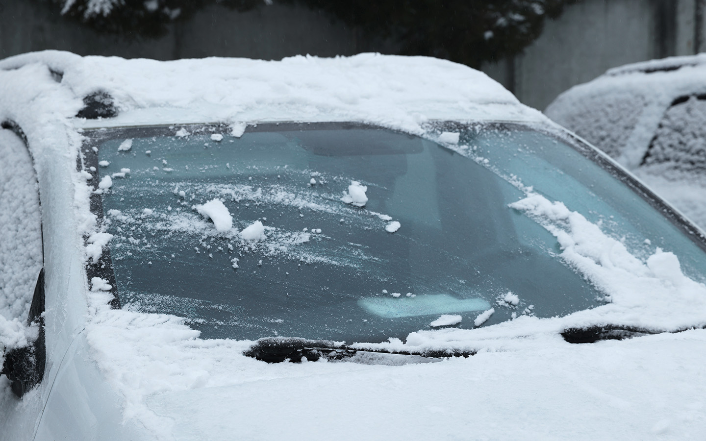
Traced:
<path fill-rule="evenodd" d="M 647 200 L 596 162 L 556 138 L 531 130 L 465 129 L 461 144 L 474 159 L 503 176 L 517 176 L 549 200 L 580 212 L 602 231 L 620 240 L 643 260 L 659 247 L 675 253 L 689 277 L 706 282 L 706 255 L 690 235 L 662 216 Z"/>

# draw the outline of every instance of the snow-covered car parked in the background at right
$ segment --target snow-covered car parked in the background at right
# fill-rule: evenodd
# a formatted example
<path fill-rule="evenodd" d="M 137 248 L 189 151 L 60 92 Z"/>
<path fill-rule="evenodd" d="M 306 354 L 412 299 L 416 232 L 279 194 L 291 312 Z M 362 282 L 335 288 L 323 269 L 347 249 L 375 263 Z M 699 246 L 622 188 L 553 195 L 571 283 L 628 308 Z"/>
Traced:
<path fill-rule="evenodd" d="M 706 54 L 612 68 L 546 115 L 614 157 L 706 228 Z"/>

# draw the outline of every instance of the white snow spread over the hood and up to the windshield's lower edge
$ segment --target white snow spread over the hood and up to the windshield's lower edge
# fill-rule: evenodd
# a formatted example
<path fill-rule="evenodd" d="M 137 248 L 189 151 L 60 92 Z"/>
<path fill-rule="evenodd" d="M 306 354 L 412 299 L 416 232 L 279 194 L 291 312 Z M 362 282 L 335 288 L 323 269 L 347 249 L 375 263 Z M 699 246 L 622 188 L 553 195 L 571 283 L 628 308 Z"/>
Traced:
<path fill-rule="evenodd" d="M 478 354 L 441 363 L 382 356 L 367 363 L 265 365 L 241 355 L 250 342 L 201 340 L 182 319 L 109 310 L 95 300 L 100 306 L 88 328 L 94 356 L 126 397 L 124 418 L 138 421 L 156 440 L 277 439 L 281 425 L 301 423 L 302 412 L 321 421 L 339 421 L 342 413 L 366 421 L 337 433 L 341 440 L 469 434 L 481 440 L 616 434 L 676 440 L 698 439 L 706 429 L 706 382 L 698 380 L 706 359 L 697 350 L 706 344 L 705 330 L 580 345 L 552 332 L 519 339 L 507 327 L 479 328 Z M 470 333 L 425 332 L 438 342 L 443 337 L 472 345 Z M 423 341 L 411 336 L 405 348 Z M 328 425 L 313 425 L 293 439 L 330 435 Z"/>

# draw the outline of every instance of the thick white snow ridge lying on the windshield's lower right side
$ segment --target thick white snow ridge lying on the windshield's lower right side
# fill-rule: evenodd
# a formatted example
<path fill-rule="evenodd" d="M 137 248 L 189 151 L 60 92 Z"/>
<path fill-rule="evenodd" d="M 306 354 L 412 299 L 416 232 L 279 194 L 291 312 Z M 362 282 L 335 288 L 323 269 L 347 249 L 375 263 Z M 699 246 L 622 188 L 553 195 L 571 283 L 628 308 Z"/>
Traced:
<path fill-rule="evenodd" d="M 623 310 L 623 325 L 647 329 L 678 330 L 706 325 L 706 286 L 681 272 L 674 253 L 656 248 L 646 262 L 631 255 L 621 241 L 604 234 L 578 212 L 539 194 L 528 195 L 510 207 L 526 212 L 553 234 L 561 258 L 604 291 L 611 303 L 573 315 L 603 314 Z M 689 305 L 674 313 L 676 304 Z"/>

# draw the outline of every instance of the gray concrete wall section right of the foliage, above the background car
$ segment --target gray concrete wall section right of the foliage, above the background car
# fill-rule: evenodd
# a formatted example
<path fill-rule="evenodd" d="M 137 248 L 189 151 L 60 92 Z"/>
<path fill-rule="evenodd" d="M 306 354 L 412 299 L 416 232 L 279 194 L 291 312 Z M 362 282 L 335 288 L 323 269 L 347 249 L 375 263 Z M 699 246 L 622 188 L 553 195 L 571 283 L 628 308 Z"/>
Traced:
<path fill-rule="evenodd" d="M 523 54 L 483 66 L 520 101 L 544 109 L 573 85 L 609 68 L 703 50 L 698 2 L 583 0 L 548 20 Z M 699 44 L 701 40 L 701 44 Z"/>

